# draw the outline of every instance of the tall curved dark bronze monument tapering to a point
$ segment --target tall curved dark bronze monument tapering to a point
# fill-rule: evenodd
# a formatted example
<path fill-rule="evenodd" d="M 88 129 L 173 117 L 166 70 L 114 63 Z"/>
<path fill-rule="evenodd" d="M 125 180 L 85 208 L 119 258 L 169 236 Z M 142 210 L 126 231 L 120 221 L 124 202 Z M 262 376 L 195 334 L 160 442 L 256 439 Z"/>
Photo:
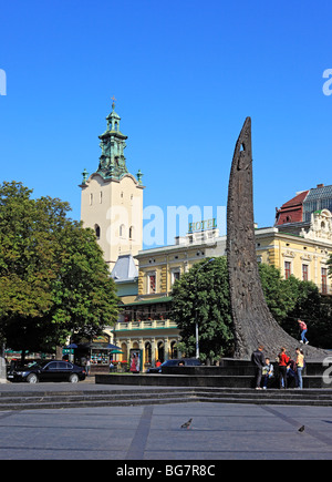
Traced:
<path fill-rule="evenodd" d="M 261 287 L 257 264 L 253 202 L 251 119 L 247 117 L 232 157 L 227 203 L 227 260 L 231 311 L 236 336 L 236 358 L 250 358 L 259 345 L 274 360 L 281 347 L 294 356 L 299 341 L 272 317 Z M 302 346 L 305 356 L 322 359 L 328 353 Z"/>

